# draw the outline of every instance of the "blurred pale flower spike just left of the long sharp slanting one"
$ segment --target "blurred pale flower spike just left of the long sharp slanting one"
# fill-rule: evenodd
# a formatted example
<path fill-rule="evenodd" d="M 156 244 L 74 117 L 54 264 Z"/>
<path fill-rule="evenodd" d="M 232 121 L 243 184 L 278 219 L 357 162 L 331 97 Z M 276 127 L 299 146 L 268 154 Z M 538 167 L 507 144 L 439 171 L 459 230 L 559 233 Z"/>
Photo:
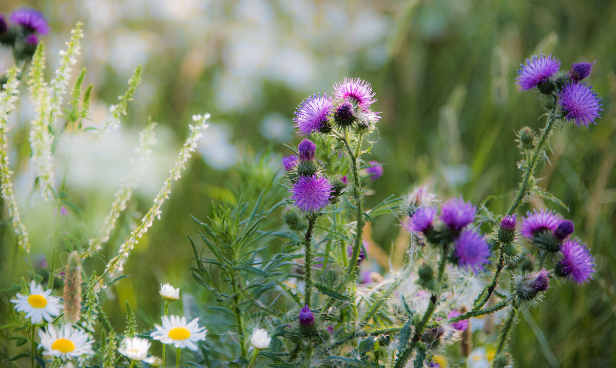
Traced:
<path fill-rule="evenodd" d="M 152 158 L 152 146 L 156 144 L 156 137 L 154 134 L 155 126 L 156 123 L 150 123 L 139 133 L 139 147 L 135 148 L 137 158 L 131 159 L 131 172 L 124 178 L 124 182 L 120 185 L 120 189 L 114 194 L 115 201 L 111 204 L 111 212 L 109 212 L 103 221 L 99 236 L 90 239 L 90 246 L 88 248 L 89 254 L 100 250 L 102 245 L 109 240 L 111 231 L 115 228 L 116 221 L 120 217 L 121 212 L 126 209 L 126 203 L 131 199 L 132 191 L 137 188 L 139 177 Z"/>

